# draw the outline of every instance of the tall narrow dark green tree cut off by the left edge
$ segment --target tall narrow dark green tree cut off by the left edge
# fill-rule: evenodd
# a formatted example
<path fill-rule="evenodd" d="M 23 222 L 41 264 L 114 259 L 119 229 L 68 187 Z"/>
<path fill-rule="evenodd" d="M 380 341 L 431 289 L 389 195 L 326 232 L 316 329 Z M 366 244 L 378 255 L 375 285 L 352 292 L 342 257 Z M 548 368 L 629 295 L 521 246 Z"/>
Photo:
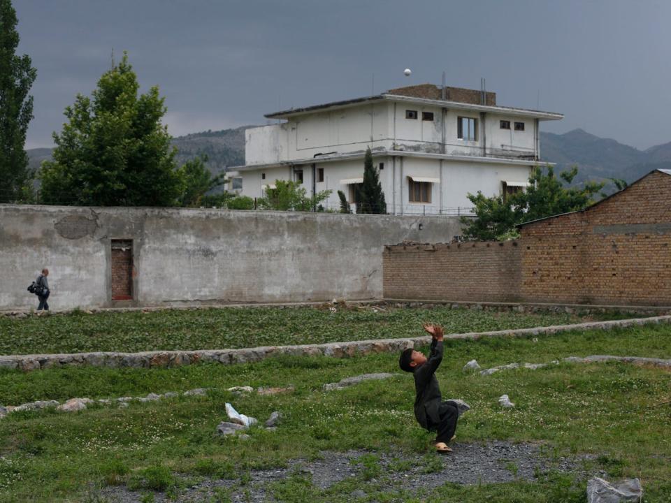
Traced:
<path fill-rule="evenodd" d="M 33 118 L 28 95 L 37 77 L 29 56 L 17 56 L 19 34 L 11 0 L 0 0 L 0 203 L 29 201 L 34 173 L 24 150 Z"/>

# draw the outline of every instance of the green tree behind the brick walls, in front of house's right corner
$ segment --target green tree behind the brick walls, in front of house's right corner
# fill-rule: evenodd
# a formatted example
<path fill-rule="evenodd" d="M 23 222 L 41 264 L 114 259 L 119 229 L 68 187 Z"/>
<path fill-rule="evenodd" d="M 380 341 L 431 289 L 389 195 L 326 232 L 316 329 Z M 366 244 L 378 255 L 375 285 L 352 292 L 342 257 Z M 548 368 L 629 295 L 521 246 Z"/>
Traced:
<path fill-rule="evenodd" d="M 565 187 L 578 173 L 570 170 L 554 175 L 552 166 L 533 168 L 525 191 L 503 196 L 485 197 L 482 192 L 468 194 L 477 219 L 463 217 L 463 234 L 473 240 L 500 240 L 517 235 L 516 226 L 524 221 L 583 210 L 593 204 L 593 197 L 603 183 L 586 182 L 582 187 Z"/>

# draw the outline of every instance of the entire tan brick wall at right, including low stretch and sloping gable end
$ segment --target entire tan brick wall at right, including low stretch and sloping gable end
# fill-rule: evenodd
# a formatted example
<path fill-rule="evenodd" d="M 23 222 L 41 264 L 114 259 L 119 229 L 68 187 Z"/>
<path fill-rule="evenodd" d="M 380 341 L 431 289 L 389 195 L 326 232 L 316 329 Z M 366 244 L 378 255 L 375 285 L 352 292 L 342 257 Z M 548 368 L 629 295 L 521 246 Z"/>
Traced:
<path fill-rule="evenodd" d="M 512 244 L 388 247 L 383 264 L 387 298 L 671 305 L 671 175 L 526 224 Z"/>

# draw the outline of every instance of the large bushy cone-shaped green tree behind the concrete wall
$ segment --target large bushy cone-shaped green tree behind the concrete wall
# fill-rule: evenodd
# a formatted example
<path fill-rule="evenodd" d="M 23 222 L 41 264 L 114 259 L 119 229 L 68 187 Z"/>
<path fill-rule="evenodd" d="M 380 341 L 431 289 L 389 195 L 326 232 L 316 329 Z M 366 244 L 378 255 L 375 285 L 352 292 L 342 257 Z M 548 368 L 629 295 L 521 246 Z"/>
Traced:
<path fill-rule="evenodd" d="M 101 206 L 175 205 L 183 188 L 158 87 L 138 96 L 128 56 L 102 75 L 92 98 L 68 106 L 53 161 L 43 164 L 45 203 Z"/>

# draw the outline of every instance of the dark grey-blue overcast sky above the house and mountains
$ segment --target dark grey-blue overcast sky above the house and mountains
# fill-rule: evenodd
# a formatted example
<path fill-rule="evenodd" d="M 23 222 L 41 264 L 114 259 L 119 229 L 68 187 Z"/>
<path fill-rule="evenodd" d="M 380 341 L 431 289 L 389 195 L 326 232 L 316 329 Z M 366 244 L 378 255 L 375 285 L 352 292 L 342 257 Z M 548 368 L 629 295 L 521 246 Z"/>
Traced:
<path fill-rule="evenodd" d="M 51 146 L 63 110 L 129 52 L 159 85 L 173 136 L 266 124 L 278 108 L 401 85 L 497 93 L 562 112 L 644 149 L 671 141 L 668 0 L 14 0 L 38 77 L 27 148 Z M 411 68 L 410 78 L 403 69 Z M 373 87 L 373 74 L 375 85 Z M 540 99 L 539 99 L 540 96 Z"/>

